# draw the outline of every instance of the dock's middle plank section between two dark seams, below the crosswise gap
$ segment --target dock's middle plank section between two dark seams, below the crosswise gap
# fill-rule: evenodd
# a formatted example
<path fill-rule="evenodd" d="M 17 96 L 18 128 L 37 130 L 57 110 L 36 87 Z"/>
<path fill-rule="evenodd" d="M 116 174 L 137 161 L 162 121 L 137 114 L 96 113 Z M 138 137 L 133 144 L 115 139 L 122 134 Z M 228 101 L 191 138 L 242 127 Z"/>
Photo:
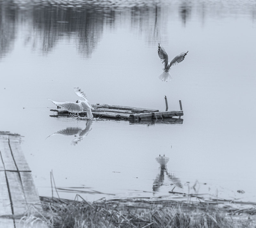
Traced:
<path fill-rule="evenodd" d="M 22 189 L 18 172 L 6 171 L 10 195 L 12 198 L 13 212 L 15 215 L 22 215 L 27 210 L 25 195 Z"/>

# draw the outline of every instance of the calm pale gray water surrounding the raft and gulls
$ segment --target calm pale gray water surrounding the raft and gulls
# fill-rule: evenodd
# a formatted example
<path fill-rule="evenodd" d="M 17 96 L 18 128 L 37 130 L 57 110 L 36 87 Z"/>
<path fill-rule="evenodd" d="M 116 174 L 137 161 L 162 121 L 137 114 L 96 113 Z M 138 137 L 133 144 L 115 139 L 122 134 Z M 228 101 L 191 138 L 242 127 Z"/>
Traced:
<path fill-rule="evenodd" d="M 106 193 L 87 200 L 175 187 L 255 201 L 254 1 L 0 1 L 0 15 L 0 130 L 24 136 L 39 195 L 52 194 L 53 170 L 57 187 Z M 158 43 L 170 58 L 188 51 L 168 83 Z M 75 101 L 76 86 L 92 104 L 165 110 L 166 95 L 179 110 L 182 100 L 183 124 L 93 120 L 74 143 L 87 121 L 50 117 L 47 98 Z"/>

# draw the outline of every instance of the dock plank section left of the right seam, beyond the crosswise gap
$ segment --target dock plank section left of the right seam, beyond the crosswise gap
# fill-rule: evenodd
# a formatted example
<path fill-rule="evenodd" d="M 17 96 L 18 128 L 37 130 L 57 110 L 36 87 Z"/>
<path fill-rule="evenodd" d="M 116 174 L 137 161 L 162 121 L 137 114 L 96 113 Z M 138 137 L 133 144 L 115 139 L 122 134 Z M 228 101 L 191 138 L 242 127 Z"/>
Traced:
<path fill-rule="evenodd" d="M 0 135 L 0 152 L 5 170 L 17 170 L 8 143 L 8 136 Z"/>

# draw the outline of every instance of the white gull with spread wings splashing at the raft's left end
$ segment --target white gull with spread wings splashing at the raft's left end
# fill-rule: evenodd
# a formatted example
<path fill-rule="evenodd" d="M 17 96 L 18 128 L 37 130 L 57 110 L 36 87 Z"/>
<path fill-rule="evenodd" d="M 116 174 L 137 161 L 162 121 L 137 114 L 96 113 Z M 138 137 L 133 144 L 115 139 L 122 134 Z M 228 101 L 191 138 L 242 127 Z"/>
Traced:
<path fill-rule="evenodd" d="M 79 114 L 79 113 L 83 112 L 84 110 L 86 110 L 87 117 L 89 119 L 92 119 L 93 118 L 92 110 L 94 108 L 92 107 L 90 102 L 87 100 L 85 93 L 79 87 L 75 87 L 74 90 L 75 90 L 76 95 L 78 97 L 83 98 L 84 100 L 77 100 L 76 103 L 75 103 L 75 102 L 68 102 L 68 101 L 66 101 L 66 102 L 57 102 L 57 101 L 53 101 L 49 98 L 48 99 L 50 101 L 52 101 L 53 104 L 61 107 L 62 109 L 65 109 L 65 110 L 67 110 L 68 112 L 71 112 L 71 113 Z"/>

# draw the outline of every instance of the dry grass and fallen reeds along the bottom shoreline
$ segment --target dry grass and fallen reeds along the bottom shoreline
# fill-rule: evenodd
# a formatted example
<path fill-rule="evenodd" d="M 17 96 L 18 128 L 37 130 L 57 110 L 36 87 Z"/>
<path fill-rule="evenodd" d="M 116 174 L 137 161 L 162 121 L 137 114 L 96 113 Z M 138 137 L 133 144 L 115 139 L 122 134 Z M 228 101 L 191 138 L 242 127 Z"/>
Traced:
<path fill-rule="evenodd" d="M 80 195 L 75 200 L 40 196 L 43 210 L 37 215 L 28 213 L 20 222 L 24 227 L 51 228 L 256 227 L 256 203 L 196 199 L 181 202 L 161 197 L 102 198 L 87 202 Z"/>

